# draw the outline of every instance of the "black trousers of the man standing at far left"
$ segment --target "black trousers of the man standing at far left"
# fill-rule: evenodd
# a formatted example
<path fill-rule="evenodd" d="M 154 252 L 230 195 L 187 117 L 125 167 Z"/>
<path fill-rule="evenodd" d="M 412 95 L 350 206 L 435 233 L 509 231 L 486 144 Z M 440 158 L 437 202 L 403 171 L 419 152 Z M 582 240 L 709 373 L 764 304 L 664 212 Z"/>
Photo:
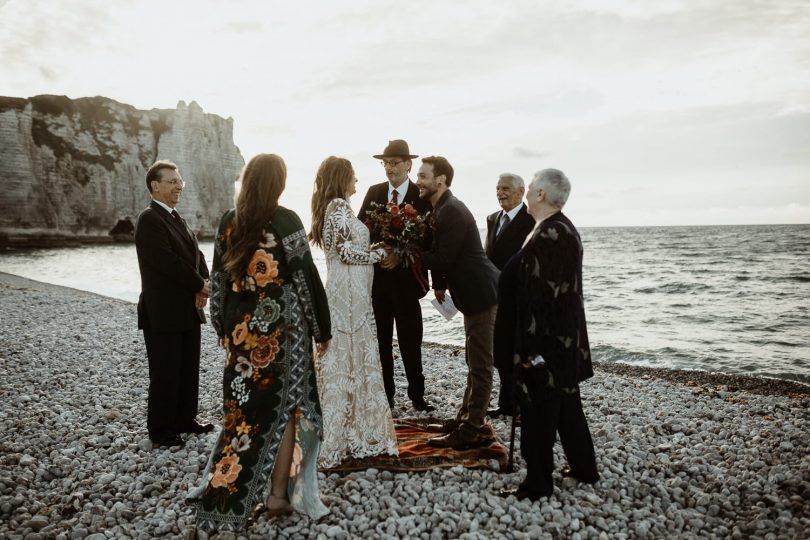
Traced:
<path fill-rule="evenodd" d="M 186 332 L 144 329 L 149 358 L 149 437 L 179 433 L 197 417 L 200 387 L 200 325 Z"/>

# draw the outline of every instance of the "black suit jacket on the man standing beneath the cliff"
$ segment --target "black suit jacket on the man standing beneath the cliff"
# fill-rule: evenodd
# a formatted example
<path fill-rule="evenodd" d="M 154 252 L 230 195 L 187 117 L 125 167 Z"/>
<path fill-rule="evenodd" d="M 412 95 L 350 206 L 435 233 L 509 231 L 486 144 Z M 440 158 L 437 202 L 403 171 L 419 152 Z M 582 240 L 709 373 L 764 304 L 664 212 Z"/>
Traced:
<path fill-rule="evenodd" d="M 141 270 L 138 328 L 183 332 L 200 324 L 194 295 L 208 278 L 205 257 L 185 225 L 152 201 L 135 224 Z"/>

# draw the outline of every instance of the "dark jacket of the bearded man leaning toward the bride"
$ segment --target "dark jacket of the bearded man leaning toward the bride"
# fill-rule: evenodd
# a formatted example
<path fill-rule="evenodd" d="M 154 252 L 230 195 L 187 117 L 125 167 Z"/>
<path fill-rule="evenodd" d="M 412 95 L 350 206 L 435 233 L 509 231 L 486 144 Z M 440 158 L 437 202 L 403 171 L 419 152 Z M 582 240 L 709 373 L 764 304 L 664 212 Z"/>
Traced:
<path fill-rule="evenodd" d="M 494 306 L 500 272 L 484 253 L 472 213 L 449 190 L 434 213 L 433 244 L 422 253 L 422 263 L 433 273 L 433 288 L 449 288 L 453 303 L 466 315 Z"/>

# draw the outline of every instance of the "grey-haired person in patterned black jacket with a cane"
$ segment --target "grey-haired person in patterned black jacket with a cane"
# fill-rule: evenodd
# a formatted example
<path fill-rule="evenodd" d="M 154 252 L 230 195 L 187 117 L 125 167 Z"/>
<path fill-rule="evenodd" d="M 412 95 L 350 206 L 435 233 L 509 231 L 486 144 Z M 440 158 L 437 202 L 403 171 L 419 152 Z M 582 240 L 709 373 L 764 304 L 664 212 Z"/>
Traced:
<path fill-rule="evenodd" d="M 557 433 L 569 465 L 563 476 L 586 483 L 599 479 L 579 393 L 579 384 L 593 376 L 593 366 L 582 297 L 582 241 L 562 213 L 570 192 L 562 171 L 544 169 L 535 174 L 526 194 L 537 225 L 514 265 L 526 479 L 517 490 L 504 492 L 518 499 L 553 493 Z"/>

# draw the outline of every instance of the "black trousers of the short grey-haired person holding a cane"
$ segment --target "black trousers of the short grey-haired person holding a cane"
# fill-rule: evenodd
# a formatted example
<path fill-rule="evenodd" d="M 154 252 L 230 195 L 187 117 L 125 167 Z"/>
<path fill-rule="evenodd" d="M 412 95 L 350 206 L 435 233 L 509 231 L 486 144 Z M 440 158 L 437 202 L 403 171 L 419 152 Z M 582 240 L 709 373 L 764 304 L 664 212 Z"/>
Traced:
<path fill-rule="evenodd" d="M 543 388 L 537 379 L 542 369 L 526 374 L 529 401 L 521 400 L 520 452 L 526 460 L 526 479 L 521 487 L 539 495 L 554 491 L 554 443 L 560 434 L 563 452 L 574 477 L 596 479 L 596 454 L 579 392 L 567 394 Z"/>

